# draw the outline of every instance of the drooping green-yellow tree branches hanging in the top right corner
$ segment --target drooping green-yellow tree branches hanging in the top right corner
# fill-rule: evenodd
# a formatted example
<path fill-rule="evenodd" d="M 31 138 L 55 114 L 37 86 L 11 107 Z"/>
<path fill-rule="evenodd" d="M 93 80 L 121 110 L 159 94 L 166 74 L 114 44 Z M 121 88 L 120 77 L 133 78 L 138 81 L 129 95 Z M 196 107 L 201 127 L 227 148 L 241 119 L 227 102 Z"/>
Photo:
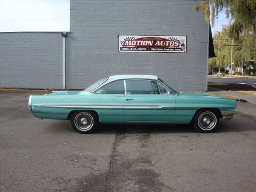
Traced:
<path fill-rule="evenodd" d="M 194 10 L 204 12 L 206 23 L 211 18 L 212 26 L 218 14 L 225 11 L 226 17 L 231 21 L 230 35 L 233 38 L 239 38 L 239 34 L 245 29 L 256 33 L 256 0 L 200 0 L 195 4 Z"/>

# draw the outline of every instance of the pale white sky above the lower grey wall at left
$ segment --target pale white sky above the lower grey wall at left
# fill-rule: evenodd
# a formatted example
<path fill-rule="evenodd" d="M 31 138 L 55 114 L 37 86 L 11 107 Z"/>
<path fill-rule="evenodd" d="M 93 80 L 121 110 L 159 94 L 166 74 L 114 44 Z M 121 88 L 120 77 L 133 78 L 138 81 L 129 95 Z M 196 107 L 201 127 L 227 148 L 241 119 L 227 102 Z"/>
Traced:
<path fill-rule="evenodd" d="M 69 31 L 69 0 L 0 0 L 0 32 Z"/>

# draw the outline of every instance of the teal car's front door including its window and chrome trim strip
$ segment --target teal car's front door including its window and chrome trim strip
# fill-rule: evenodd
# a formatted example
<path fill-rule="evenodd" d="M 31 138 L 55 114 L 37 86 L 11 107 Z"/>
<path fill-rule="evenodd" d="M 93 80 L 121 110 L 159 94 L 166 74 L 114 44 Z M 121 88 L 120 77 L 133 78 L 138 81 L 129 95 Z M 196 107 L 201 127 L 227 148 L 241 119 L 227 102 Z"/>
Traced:
<path fill-rule="evenodd" d="M 127 79 L 125 86 L 125 122 L 174 122 L 175 98 L 173 94 L 167 92 L 162 84 L 154 80 Z"/>

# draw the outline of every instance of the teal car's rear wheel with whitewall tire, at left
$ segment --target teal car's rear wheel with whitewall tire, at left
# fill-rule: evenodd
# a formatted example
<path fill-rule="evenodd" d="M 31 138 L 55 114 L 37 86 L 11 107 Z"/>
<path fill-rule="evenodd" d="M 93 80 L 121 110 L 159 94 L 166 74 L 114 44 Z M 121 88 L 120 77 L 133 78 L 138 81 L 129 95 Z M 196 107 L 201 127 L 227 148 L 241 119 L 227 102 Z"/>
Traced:
<path fill-rule="evenodd" d="M 99 123 L 99 118 L 93 111 L 76 111 L 71 116 L 71 125 L 78 133 L 92 133 Z"/>

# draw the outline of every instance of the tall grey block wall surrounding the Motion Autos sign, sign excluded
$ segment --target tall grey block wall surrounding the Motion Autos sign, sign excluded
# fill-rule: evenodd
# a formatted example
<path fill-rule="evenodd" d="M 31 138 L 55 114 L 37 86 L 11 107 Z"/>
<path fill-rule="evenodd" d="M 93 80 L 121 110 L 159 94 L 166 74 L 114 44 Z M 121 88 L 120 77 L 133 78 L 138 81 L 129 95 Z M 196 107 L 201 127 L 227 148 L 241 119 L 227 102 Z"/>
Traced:
<path fill-rule="evenodd" d="M 116 74 L 151 74 L 178 90 L 207 89 L 208 26 L 197 1 L 73 0 L 71 83 L 82 88 Z M 187 36 L 187 53 L 118 52 L 120 35 Z"/>

